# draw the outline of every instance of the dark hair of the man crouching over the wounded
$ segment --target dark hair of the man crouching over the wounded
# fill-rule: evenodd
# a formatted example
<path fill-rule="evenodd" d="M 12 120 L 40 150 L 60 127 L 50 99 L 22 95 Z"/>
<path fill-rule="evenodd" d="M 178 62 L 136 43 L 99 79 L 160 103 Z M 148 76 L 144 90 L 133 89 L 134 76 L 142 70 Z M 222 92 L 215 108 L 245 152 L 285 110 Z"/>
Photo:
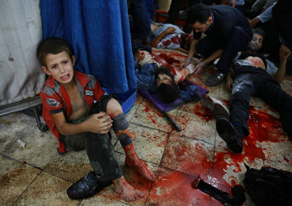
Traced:
<path fill-rule="evenodd" d="M 206 24 L 208 18 L 212 15 L 211 9 L 205 4 L 195 4 L 187 11 L 187 22 L 193 25 L 196 22 Z"/>

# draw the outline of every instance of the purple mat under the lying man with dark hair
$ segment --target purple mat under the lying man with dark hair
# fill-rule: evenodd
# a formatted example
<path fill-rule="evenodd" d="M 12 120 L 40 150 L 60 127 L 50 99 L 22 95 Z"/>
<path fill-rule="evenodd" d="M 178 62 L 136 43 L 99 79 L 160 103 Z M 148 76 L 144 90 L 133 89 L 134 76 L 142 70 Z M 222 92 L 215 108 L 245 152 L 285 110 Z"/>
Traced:
<path fill-rule="evenodd" d="M 182 82 L 182 84 L 186 85 L 186 86 L 189 86 L 189 85 L 195 85 L 197 90 L 198 90 L 198 93 L 203 96 L 203 95 L 206 95 L 208 94 L 209 90 L 195 84 L 194 82 L 188 80 L 188 79 L 185 79 L 185 81 Z M 148 92 L 147 90 L 139 90 L 139 92 L 144 96 L 146 97 L 150 102 L 152 102 L 155 107 L 157 107 L 157 109 L 162 112 L 162 111 L 171 111 L 177 107 L 180 107 L 184 104 L 186 104 L 188 101 L 187 100 L 184 100 L 184 99 L 181 99 L 181 98 L 177 98 L 174 102 L 172 103 L 163 103 L 159 97 L 153 93 L 153 92 Z"/>

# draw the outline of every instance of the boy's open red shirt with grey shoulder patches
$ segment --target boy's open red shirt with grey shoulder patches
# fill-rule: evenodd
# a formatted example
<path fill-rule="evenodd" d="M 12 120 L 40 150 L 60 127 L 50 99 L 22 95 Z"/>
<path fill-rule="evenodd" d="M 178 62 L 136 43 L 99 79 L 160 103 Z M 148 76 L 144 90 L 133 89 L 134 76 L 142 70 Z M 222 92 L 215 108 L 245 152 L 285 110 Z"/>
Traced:
<path fill-rule="evenodd" d="M 94 101 L 98 101 L 105 91 L 101 88 L 99 82 L 93 75 L 83 74 L 74 71 L 74 78 L 86 108 L 89 111 Z M 59 141 L 59 151 L 65 153 L 65 145 L 60 142 L 59 130 L 53 120 L 52 114 L 64 113 L 67 119 L 71 113 L 71 102 L 65 88 L 50 76 L 44 83 L 40 91 L 41 101 L 43 102 L 43 118 L 51 132 Z"/>

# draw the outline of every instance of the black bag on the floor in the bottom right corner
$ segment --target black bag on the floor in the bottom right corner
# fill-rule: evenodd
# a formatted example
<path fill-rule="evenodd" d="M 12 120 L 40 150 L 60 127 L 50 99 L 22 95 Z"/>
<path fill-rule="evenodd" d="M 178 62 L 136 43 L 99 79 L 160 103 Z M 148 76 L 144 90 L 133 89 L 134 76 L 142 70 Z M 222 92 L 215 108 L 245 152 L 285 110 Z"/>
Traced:
<path fill-rule="evenodd" d="M 291 205 L 292 173 L 272 167 L 246 167 L 244 186 L 256 205 Z"/>

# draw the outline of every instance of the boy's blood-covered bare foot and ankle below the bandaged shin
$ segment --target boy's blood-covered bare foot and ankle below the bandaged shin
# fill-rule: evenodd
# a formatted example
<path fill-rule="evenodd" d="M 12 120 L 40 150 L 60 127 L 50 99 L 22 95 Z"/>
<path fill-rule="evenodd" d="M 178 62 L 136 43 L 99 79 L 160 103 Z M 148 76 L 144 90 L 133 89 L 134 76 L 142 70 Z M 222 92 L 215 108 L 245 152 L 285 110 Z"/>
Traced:
<path fill-rule="evenodd" d="M 155 174 L 151 172 L 137 156 L 133 144 L 123 147 L 126 153 L 125 164 L 139 172 L 139 174 L 151 182 L 156 180 Z"/>

